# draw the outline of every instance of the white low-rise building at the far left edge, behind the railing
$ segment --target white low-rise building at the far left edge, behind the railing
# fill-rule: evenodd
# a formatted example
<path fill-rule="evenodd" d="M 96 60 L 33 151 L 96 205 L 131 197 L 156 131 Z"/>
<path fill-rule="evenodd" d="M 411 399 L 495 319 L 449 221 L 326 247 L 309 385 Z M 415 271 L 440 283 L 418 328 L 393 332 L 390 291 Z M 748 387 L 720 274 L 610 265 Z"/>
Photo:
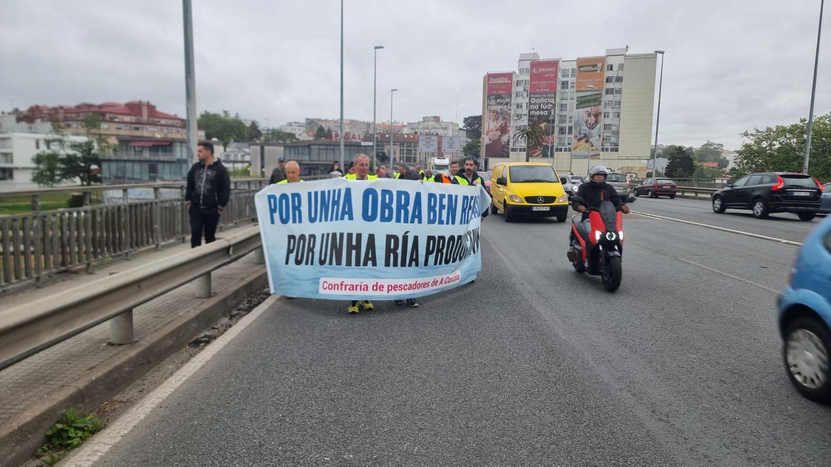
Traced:
<path fill-rule="evenodd" d="M 51 140 L 50 122 L 17 123 L 13 114 L 0 114 L 0 192 L 37 188 L 32 182 L 35 154 L 47 150 L 66 152 Z M 66 143 L 86 141 L 86 136 L 65 135 Z M 77 182 L 77 181 L 75 181 Z"/>

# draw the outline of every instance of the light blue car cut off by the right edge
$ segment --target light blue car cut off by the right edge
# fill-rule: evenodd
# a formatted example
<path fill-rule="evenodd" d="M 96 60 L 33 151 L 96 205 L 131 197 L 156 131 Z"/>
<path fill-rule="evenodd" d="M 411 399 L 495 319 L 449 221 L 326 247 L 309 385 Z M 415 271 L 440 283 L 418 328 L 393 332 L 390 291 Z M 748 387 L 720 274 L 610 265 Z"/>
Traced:
<path fill-rule="evenodd" d="M 790 382 L 813 401 L 831 402 L 831 217 L 805 239 L 777 304 Z"/>

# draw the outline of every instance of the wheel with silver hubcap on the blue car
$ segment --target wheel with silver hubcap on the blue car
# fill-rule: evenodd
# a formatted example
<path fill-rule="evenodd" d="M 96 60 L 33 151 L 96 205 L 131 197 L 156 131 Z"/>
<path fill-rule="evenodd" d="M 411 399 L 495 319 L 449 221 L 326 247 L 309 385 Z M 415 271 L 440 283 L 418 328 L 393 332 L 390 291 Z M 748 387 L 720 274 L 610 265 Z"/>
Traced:
<path fill-rule="evenodd" d="M 831 402 L 829 382 L 831 337 L 816 318 L 799 318 L 784 331 L 782 357 L 790 382 L 812 401 Z"/>

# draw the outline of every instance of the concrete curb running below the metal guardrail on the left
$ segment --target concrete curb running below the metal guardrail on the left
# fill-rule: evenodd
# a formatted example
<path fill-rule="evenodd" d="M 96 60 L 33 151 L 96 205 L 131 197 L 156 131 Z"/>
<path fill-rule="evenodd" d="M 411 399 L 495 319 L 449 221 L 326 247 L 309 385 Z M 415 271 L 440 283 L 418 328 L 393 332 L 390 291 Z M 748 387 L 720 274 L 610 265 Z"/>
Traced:
<path fill-rule="evenodd" d="M 30 460 L 32 453 L 47 442 L 43 433 L 70 406 L 81 414 L 95 411 L 209 328 L 226 309 L 236 308 L 266 285 L 268 275 L 264 268 L 249 274 L 235 289 L 205 300 L 199 308 L 156 329 L 12 416 L 0 426 L 0 465 L 12 467 Z"/>

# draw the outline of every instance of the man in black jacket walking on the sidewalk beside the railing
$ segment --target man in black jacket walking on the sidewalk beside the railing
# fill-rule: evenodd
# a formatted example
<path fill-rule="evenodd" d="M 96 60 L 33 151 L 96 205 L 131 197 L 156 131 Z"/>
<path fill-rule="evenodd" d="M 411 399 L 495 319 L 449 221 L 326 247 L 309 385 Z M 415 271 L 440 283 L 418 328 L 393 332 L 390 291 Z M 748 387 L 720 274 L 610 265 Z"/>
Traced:
<path fill-rule="evenodd" d="M 190 247 L 202 244 L 204 229 L 205 243 L 216 240 L 216 226 L 219 216 L 228 206 L 231 196 L 231 178 L 228 169 L 214 159 L 214 145 L 199 143 L 199 162 L 194 163 L 188 173 L 188 187 L 184 201 L 190 217 Z"/>

